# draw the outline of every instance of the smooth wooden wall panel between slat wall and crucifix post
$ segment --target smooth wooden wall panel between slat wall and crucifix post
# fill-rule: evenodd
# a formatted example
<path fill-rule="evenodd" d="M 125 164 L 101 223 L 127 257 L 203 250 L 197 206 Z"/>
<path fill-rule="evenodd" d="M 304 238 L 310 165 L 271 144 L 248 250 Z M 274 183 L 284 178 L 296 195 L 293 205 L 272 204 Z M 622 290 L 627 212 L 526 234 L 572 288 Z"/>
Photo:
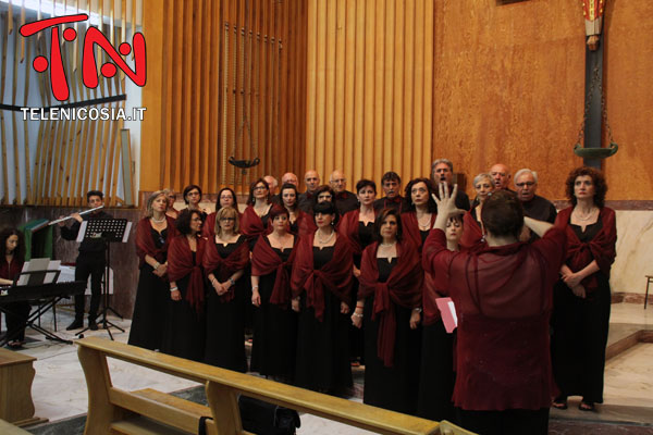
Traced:
<path fill-rule="evenodd" d="M 435 4 L 433 158 L 467 174 L 468 194 L 476 174 L 504 162 L 538 171 L 539 194 L 563 198 L 582 162 L 571 151 L 584 92 L 579 2 Z"/>

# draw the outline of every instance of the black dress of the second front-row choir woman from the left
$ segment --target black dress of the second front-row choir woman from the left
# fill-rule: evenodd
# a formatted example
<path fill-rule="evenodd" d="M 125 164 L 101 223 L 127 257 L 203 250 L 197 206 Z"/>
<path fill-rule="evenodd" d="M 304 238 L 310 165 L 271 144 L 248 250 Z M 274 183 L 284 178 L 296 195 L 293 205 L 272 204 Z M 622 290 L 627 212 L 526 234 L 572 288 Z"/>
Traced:
<path fill-rule="evenodd" d="M 197 252 L 193 252 L 193 262 L 197 264 Z M 202 361 L 205 350 L 204 313 L 198 313 L 186 300 L 186 288 L 190 274 L 176 281 L 182 300 L 172 300 L 168 291 L 168 327 L 163 337 L 162 351 L 175 357 Z"/>

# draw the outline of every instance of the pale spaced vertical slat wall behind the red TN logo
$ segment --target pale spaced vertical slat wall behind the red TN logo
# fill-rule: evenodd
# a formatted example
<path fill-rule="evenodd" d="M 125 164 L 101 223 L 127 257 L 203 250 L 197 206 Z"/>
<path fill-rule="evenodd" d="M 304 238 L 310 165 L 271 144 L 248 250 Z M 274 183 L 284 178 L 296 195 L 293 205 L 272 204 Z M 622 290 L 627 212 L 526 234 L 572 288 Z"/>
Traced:
<path fill-rule="evenodd" d="M 50 51 L 50 32 L 44 30 L 38 35 L 23 38 L 20 26 L 27 21 L 46 18 L 51 15 L 74 14 L 79 11 L 90 11 L 100 16 L 110 18 L 109 23 L 101 25 L 94 23 L 111 40 L 114 47 L 124 41 L 128 26 L 131 35 L 135 32 L 140 21 L 135 11 L 137 3 L 141 0 L 130 0 L 132 9 L 126 8 L 126 0 L 56 0 L 51 5 L 39 7 L 40 11 L 26 12 L 25 2 L 15 1 L 13 8 L 9 8 L 2 14 L 2 26 L 0 40 L 4 48 L 11 45 L 13 55 L 3 53 L 1 75 L 7 80 L 0 90 L 0 101 L 20 107 L 46 108 L 59 105 L 51 92 L 49 70 L 45 73 L 32 71 L 32 62 L 36 55 L 46 55 Z M 122 27 L 115 32 L 113 18 L 121 18 Z M 128 23 L 128 24 L 127 24 Z M 72 42 L 63 41 L 63 29 L 71 25 L 59 26 L 59 35 L 62 50 L 63 66 L 67 77 L 70 98 L 65 103 L 83 102 L 94 98 L 110 97 L 125 92 L 125 75 L 119 72 L 112 78 L 99 75 L 99 86 L 88 89 L 82 80 L 82 52 L 84 35 L 89 22 L 75 23 L 73 27 L 77 32 L 77 38 Z M 130 37 L 131 37 L 130 35 Z M 130 39 L 131 41 L 131 39 Z M 107 53 L 99 49 L 96 52 L 98 63 L 109 61 Z M 9 75 L 11 82 L 9 82 Z M 17 86 L 19 79 L 23 82 Z M 93 108 L 122 108 L 125 102 L 118 101 Z M 130 113 L 126 113 L 130 116 Z M 0 173 L 2 174 L 0 196 L 1 204 L 36 204 L 36 206 L 64 206 L 79 207 L 86 204 L 85 192 L 89 189 L 102 190 L 106 195 L 108 206 L 124 202 L 119 198 L 119 188 L 122 167 L 122 147 L 120 146 L 120 129 L 123 127 L 122 120 L 21 120 L 20 112 L 2 110 L 0 121 L 2 158 Z M 34 123 L 38 123 L 36 129 Z M 36 134 L 35 134 L 36 132 Z M 9 138 L 11 137 L 11 144 Z M 7 152 L 11 145 L 11 151 Z M 22 154 L 22 156 L 21 156 Z M 13 177 L 9 177 L 10 167 Z M 132 167 L 127 167 L 132 171 Z M 10 197 L 9 187 L 13 187 Z M 122 186 L 132 188 L 131 186 Z M 128 197 L 134 197 L 133 194 Z"/>

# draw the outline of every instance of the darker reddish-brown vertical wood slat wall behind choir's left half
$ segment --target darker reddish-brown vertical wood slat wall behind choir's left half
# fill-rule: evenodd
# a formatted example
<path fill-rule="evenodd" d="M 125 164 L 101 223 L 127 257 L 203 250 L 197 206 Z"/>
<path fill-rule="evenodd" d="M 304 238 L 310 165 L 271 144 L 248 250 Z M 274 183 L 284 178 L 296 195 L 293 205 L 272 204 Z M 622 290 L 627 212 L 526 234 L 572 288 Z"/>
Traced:
<path fill-rule="evenodd" d="M 244 192 L 259 176 L 304 171 L 306 10 L 306 1 L 165 0 L 160 144 L 141 142 L 161 164 L 141 190 Z M 261 163 L 243 175 L 232 156 Z"/>

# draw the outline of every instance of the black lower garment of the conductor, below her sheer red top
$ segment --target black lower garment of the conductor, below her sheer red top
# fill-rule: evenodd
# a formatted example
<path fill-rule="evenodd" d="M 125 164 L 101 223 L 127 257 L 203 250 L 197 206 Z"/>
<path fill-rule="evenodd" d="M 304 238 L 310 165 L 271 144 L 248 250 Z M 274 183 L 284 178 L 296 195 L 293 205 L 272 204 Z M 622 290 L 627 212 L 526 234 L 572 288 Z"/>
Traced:
<path fill-rule="evenodd" d="M 549 432 L 549 408 L 457 411 L 460 426 L 481 435 L 546 435 Z"/>

